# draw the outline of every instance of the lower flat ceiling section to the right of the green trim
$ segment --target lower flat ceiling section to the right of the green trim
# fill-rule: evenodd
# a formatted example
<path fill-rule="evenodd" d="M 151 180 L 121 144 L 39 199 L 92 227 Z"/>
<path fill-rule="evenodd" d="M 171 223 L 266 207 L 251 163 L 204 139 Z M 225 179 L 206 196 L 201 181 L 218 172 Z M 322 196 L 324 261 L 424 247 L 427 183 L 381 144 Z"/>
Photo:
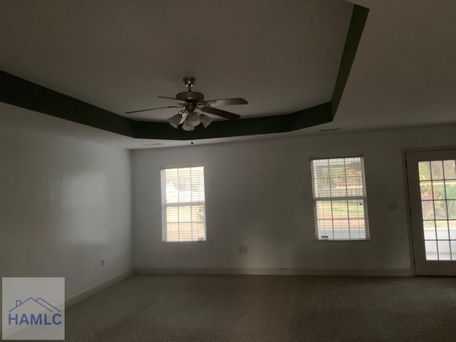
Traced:
<path fill-rule="evenodd" d="M 331 125 L 456 123 L 456 1 L 357 2 L 371 11 Z"/>

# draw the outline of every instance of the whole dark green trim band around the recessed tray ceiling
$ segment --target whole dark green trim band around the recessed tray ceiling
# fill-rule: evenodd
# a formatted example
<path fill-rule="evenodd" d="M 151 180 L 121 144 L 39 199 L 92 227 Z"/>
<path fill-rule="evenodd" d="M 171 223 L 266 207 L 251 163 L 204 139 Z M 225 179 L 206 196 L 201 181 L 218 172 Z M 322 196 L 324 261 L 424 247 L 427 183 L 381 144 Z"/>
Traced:
<path fill-rule="evenodd" d="M 0 101 L 38 113 L 89 125 L 131 138 L 164 140 L 197 140 L 242 135 L 291 132 L 322 123 L 330 123 L 341 100 L 343 88 L 353 65 L 368 9 L 354 5 L 346 38 L 341 66 L 331 102 L 316 105 L 286 115 L 272 115 L 242 120 L 214 121 L 208 128 L 199 125 L 192 132 L 172 128 L 168 123 L 133 120 L 71 96 L 39 86 L 17 76 L 0 71 Z"/>

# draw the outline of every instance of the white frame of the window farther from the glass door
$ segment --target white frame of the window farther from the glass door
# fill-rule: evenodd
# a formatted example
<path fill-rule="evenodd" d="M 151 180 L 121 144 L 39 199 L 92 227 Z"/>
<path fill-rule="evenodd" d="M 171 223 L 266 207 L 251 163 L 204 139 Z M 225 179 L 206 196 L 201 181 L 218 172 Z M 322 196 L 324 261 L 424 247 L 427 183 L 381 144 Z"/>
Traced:
<path fill-rule="evenodd" d="M 166 186 L 166 181 L 163 182 L 162 175 L 165 170 L 178 170 L 178 169 L 185 169 L 189 167 L 202 167 L 203 170 L 203 184 L 204 184 L 204 201 L 201 202 L 177 202 L 177 203 L 166 203 L 166 189 L 164 188 L 164 185 Z M 204 172 L 204 165 L 201 164 L 193 164 L 193 165 L 179 165 L 179 166 L 164 166 L 160 167 L 160 202 L 161 202 L 161 207 L 162 207 L 162 242 L 164 243 L 180 243 L 180 244 L 185 244 L 185 243 L 195 243 L 195 242 L 206 242 L 207 241 L 207 227 L 206 227 L 206 180 L 205 180 L 205 172 Z M 185 207 L 185 206 L 197 206 L 197 205 L 202 205 L 204 209 L 204 239 L 197 239 L 197 240 L 184 240 L 184 241 L 170 241 L 167 239 L 167 208 L 168 207 Z M 178 222 L 180 223 L 180 222 Z"/>

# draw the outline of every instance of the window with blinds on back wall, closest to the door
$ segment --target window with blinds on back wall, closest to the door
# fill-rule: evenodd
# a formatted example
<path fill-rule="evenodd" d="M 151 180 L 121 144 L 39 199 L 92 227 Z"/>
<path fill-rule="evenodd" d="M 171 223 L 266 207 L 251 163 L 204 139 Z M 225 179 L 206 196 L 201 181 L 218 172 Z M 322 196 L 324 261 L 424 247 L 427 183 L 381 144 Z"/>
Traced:
<path fill-rule="evenodd" d="M 368 240 L 363 157 L 311 161 L 317 240 Z"/>

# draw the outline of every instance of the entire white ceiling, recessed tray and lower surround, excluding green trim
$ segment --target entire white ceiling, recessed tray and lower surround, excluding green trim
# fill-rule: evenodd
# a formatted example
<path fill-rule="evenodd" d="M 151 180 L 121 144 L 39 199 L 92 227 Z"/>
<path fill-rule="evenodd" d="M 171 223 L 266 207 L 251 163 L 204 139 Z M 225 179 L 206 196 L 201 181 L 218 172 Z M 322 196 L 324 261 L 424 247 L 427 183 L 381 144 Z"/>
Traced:
<path fill-rule="evenodd" d="M 371 11 L 336 118 L 290 134 L 456 123 L 456 1 L 355 2 Z M 196 76 L 208 99 L 247 98 L 224 108 L 243 118 L 286 114 L 330 100 L 351 9 L 342 0 L 2 0 L 0 69 L 119 114 L 172 104 L 155 96 L 185 90 L 183 76 Z M 128 148 L 158 142 L 27 112 L 0 105 L 0 122 L 51 120 L 46 130 Z"/>

